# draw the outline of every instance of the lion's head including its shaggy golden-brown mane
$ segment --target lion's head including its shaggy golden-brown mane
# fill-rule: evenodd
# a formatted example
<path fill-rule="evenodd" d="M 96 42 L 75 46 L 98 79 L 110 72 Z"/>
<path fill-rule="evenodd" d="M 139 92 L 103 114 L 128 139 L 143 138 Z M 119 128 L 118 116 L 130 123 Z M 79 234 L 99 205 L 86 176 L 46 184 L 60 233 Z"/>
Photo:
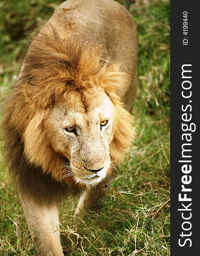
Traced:
<path fill-rule="evenodd" d="M 29 163 L 61 182 L 95 184 L 134 136 L 118 96 L 129 81 L 95 38 L 50 30 L 29 48 L 4 124 L 21 137 Z"/>

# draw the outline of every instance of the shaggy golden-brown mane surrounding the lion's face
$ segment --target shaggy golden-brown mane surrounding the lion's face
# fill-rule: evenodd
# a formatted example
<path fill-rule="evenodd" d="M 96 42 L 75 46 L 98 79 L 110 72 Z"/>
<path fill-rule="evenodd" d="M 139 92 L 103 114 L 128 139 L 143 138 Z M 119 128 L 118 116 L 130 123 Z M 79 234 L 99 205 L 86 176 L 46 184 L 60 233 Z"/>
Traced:
<path fill-rule="evenodd" d="M 14 177 L 23 179 L 29 169 L 31 175 L 49 173 L 54 180 L 60 180 L 59 173 L 66 159 L 54 152 L 46 139 L 43 119 L 64 93 L 81 92 L 89 87 L 102 87 L 114 103 L 116 125 L 110 144 L 111 157 L 113 161 L 122 160 L 134 136 L 133 119 L 117 95 L 117 87 L 127 83 L 129 78 L 120 72 L 120 63 L 111 59 L 106 47 L 94 36 L 80 35 L 76 30 L 64 32 L 53 26 L 42 29 L 29 48 L 22 75 L 4 109 L 5 154 Z M 50 189 L 51 181 L 44 182 L 49 182 Z M 27 189 L 23 188 L 25 183 L 20 189 Z M 69 188 L 74 186 L 70 177 L 65 183 Z M 57 186 L 63 191 L 63 185 Z"/>

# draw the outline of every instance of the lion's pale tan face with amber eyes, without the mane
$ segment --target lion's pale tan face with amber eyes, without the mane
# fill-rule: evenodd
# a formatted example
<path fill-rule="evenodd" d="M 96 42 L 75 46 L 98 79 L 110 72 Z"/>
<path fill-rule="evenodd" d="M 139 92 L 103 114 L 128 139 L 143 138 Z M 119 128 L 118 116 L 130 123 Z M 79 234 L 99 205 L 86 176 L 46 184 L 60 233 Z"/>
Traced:
<path fill-rule="evenodd" d="M 109 169 L 115 108 L 103 89 L 72 91 L 52 108 L 44 122 L 46 137 L 69 163 L 63 177 L 78 183 L 100 182 Z"/>

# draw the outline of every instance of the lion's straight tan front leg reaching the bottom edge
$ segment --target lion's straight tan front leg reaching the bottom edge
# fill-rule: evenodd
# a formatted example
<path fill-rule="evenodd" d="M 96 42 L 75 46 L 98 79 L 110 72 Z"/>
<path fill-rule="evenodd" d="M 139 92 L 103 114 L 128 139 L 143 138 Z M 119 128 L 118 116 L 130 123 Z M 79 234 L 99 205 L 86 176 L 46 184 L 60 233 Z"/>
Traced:
<path fill-rule="evenodd" d="M 31 198 L 20 195 L 29 231 L 34 235 L 37 254 L 40 256 L 64 256 L 60 244 L 59 218 L 56 206 L 36 204 Z"/>

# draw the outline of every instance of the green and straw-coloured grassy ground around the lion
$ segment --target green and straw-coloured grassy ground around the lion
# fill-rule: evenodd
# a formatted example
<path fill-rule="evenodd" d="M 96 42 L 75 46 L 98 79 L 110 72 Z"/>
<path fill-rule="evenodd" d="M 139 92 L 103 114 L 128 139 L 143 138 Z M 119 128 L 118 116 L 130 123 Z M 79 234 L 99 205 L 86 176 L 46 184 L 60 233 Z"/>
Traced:
<path fill-rule="evenodd" d="M 59 2 L 0 2 L 0 108 L 26 52 L 27 33 L 44 23 Z M 119 168 L 103 211 L 77 217 L 79 235 L 70 224 L 78 198 L 61 206 L 61 239 L 67 255 L 170 255 L 169 9 L 169 0 L 136 0 L 131 5 L 139 33 L 133 111 L 137 140 Z M 0 255 L 36 255 L 2 158 L 0 154 Z"/>

